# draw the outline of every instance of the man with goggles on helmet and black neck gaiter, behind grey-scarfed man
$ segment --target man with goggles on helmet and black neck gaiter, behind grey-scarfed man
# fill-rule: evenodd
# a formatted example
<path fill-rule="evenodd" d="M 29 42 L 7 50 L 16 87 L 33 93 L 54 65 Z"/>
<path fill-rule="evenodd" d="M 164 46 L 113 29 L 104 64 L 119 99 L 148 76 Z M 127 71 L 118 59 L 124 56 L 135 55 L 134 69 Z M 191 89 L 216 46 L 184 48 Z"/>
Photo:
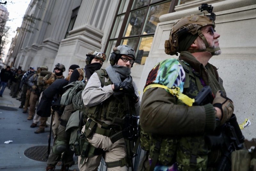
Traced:
<path fill-rule="evenodd" d="M 92 51 L 89 52 L 86 58 L 86 66 L 84 68 L 76 68 L 72 72 L 69 83 L 76 81 L 88 81 L 94 71 L 99 70 L 102 63 L 106 60 L 106 55 L 102 52 Z M 63 97 L 62 97 L 63 98 Z M 74 104 L 75 105 L 75 104 Z M 62 155 L 61 170 L 68 170 L 74 163 L 74 152 L 69 148 L 70 132 L 66 132 L 67 122 L 70 115 L 74 112 L 73 104 L 69 104 L 65 107 L 63 114 L 60 118 L 60 125 L 57 131 L 57 140 L 54 143 L 50 155 L 47 160 L 46 171 L 54 170 L 57 162 Z"/>

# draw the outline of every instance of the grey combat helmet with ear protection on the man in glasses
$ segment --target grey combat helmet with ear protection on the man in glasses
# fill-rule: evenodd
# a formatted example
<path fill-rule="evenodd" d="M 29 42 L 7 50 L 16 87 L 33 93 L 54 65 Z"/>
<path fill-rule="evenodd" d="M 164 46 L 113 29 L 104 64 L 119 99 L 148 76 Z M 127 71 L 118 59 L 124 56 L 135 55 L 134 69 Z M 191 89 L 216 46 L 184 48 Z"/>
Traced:
<path fill-rule="evenodd" d="M 117 63 L 117 61 L 120 59 L 122 55 L 129 56 L 133 58 L 133 60 L 135 61 L 136 60 L 135 54 L 136 52 L 131 46 L 119 45 L 113 48 L 113 52 L 111 53 L 109 61 L 110 61 L 110 64 L 113 66 Z M 133 63 L 132 63 L 132 66 L 133 66 Z"/>

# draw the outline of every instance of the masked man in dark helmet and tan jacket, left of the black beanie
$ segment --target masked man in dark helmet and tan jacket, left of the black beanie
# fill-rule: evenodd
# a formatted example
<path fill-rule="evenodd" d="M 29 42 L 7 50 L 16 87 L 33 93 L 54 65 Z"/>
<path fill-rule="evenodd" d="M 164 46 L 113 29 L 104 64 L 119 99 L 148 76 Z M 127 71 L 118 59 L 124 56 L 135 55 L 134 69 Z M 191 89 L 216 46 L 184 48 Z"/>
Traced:
<path fill-rule="evenodd" d="M 51 74 L 45 75 L 45 77 L 44 77 L 40 82 L 38 82 L 38 85 L 39 85 L 39 86 L 43 86 L 43 87 L 45 87 L 45 89 L 46 89 L 46 88 L 49 87 L 55 80 L 64 78 L 63 72 L 65 72 L 65 70 L 66 70 L 66 69 L 65 69 L 65 66 L 64 66 L 63 64 L 57 63 L 57 64 L 55 65 L 54 72 L 51 73 Z M 47 100 L 47 99 L 45 99 L 45 98 L 42 96 L 41 100 Z M 41 101 L 41 100 L 40 100 L 40 101 Z M 38 111 L 38 108 L 37 108 L 36 111 Z M 38 118 L 38 116 L 41 116 L 41 117 L 40 117 L 40 125 L 39 125 L 39 128 L 35 131 L 35 134 L 39 134 L 39 133 L 43 133 L 43 132 L 44 132 L 44 128 L 46 127 L 47 118 L 48 118 L 49 116 L 51 116 L 51 113 L 36 113 L 36 115 L 35 115 L 34 118 Z"/>

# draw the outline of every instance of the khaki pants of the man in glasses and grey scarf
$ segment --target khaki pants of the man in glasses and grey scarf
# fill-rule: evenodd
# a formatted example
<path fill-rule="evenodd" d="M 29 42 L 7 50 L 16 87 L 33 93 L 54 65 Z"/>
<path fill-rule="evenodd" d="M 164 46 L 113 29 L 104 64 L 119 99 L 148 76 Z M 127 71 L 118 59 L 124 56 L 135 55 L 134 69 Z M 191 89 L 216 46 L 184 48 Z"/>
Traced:
<path fill-rule="evenodd" d="M 84 132 L 84 129 L 85 129 L 85 126 L 83 127 L 82 132 Z M 101 148 L 105 151 L 103 154 L 103 158 L 105 162 L 118 161 L 126 157 L 126 147 L 125 147 L 124 138 L 112 144 L 109 137 L 94 133 L 92 138 L 88 139 L 88 141 L 94 147 Z M 81 159 L 82 159 L 81 156 L 78 156 L 79 170 L 97 171 L 97 168 L 100 165 L 101 155 L 85 158 L 82 165 L 80 164 Z M 127 166 L 112 167 L 112 168 L 108 168 L 108 171 L 128 171 L 128 167 Z"/>

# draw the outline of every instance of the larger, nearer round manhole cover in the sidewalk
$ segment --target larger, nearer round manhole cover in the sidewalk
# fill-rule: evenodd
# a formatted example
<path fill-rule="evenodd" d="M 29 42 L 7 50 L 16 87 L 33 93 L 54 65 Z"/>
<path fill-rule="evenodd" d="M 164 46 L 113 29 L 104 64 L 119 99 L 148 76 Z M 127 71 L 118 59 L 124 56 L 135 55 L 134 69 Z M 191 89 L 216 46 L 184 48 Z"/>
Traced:
<path fill-rule="evenodd" d="M 52 147 L 50 148 L 50 150 Z M 47 161 L 48 156 L 48 146 L 35 146 L 30 147 L 27 150 L 25 150 L 24 155 L 28 157 L 29 159 L 36 160 L 36 161 Z"/>

